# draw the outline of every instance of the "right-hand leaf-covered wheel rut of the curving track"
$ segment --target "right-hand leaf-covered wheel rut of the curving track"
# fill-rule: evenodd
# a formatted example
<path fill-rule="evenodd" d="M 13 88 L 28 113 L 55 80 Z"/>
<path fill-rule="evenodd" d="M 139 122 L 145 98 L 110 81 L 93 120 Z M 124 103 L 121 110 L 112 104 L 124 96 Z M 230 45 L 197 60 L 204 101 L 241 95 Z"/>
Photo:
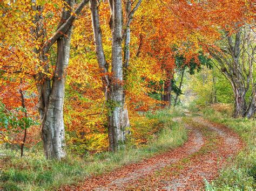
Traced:
<path fill-rule="evenodd" d="M 233 132 L 227 129 L 220 128 L 206 121 L 201 117 L 193 118 L 193 122 L 206 126 L 209 130 L 214 131 L 223 139 L 223 150 L 213 151 L 212 153 L 200 158 L 201 162 L 194 161 L 190 166 L 192 169 L 181 173 L 177 178 L 165 182 L 165 186 L 161 187 L 164 190 L 179 190 L 179 189 L 202 189 L 204 188 L 203 181 L 211 181 L 216 178 L 218 170 L 223 166 L 225 160 L 231 157 L 242 147 L 240 138 L 234 135 Z M 207 169 L 211 169 L 209 172 Z M 197 180 L 191 181 L 194 177 Z M 199 180 L 199 181 L 198 181 Z"/>

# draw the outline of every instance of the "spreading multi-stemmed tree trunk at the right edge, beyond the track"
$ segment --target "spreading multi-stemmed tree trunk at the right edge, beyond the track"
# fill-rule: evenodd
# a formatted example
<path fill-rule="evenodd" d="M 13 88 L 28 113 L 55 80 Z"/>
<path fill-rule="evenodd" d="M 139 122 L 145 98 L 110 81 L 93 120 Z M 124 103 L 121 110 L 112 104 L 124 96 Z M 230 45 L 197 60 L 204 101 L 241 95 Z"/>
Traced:
<path fill-rule="evenodd" d="M 221 51 L 210 50 L 212 57 L 218 62 L 217 68 L 230 81 L 234 93 L 234 117 L 252 117 L 255 108 L 253 88 L 253 63 L 255 63 L 255 45 L 252 44 L 251 29 L 242 27 L 234 37 L 226 35 Z M 252 89 L 250 101 L 246 102 L 246 94 Z"/>

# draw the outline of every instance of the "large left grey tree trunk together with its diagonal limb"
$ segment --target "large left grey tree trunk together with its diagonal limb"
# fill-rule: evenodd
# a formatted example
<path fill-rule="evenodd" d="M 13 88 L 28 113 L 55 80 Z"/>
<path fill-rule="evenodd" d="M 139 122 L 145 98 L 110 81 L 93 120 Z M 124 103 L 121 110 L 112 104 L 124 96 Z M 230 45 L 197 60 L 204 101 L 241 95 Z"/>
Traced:
<path fill-rule="evenodd" d="M 35 76 L 38 91 L 38 110 L 41 119 L 41 137 L 43 140 L 45 157 L 48 159 L 61 160 L 66 156 L 65 129 L 63 121 L 63 103 L 65 94 L 66 68 L 70 56 L 70 39 L 72 24 L 77 15 L 89 0 L 83 0 L 71 15 L 74 0 L 65 0 L 70 9 L 63 8 L 62 16 L 57 31 L 43 43 L 43 47 L 37 50 L 38 57 L 43 63 L 46 73 L 49 73 L 48 52 L 50 47 L 57 41 L 57 61 L 53 71 L 53 77 L 39 72 Z M 42 19 L 40 19 L 42 20 Z M 39 28 L 40 20 L 35 19 L 36 30 Z M 42 30 L 44 31 L 44 30 Z M 45 32 L 45 31 L 44 31 Z M 44 35 L 45 36 L 45 35 Z"/>

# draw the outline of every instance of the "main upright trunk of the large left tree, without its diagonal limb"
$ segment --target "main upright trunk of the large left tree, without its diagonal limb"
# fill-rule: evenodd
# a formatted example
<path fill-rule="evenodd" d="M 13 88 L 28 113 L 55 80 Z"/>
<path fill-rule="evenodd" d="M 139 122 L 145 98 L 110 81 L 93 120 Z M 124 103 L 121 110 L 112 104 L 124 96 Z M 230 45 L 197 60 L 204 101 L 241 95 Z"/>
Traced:
<path fill-rule="evenodd" d="M 67 1 L 73 7 L 73 0 Z M 62 12 L 62 21 L 70 17 L 71 10 Z M 62 25 L 60 23 L 59 25 Z M 63 120 L 63 104 L 65 95 L 66 68 L 70 56 L 70 38 L 72 25 L 65 35 L 57 39 L 57 62 L 54 70 L 52 84 L 48 82 L 49 96 L 44 96 L 44 112 L 41 123 L 41 136 L 43 140 L 45 157 L 61 160 L 65 158 L 65 128 Z M 45 89 L 45 88 L 44 88 Z"/>

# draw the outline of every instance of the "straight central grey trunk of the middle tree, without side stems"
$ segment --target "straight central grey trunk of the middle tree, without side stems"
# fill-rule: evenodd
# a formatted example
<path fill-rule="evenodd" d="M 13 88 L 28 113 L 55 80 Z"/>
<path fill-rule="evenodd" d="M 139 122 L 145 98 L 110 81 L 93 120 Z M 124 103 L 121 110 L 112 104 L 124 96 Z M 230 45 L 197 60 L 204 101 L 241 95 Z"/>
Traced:
<path fill-rule="evenodd" d="M 112 4 L 112 76 L 110 80 L 109 106 L 109 150 L 117 151 L 124 145 L 123 120 L 123 58 L 122 58 L 122 1 Z"/>

